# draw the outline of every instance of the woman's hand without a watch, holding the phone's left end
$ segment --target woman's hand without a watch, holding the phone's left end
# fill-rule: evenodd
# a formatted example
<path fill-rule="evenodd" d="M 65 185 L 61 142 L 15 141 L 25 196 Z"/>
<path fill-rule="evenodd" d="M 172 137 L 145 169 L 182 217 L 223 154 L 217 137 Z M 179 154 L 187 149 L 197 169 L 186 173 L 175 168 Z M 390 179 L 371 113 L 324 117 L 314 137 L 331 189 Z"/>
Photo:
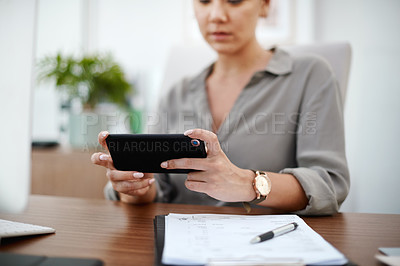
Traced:
<path fill-rule="evenodd" d="M 99 133 L 98 140 L 101 146 L 108 151 L 106 138 L 107 131 Z M 129 203 L 151 202 L 155 198 L 154 175 L 136 171 L 119 171 L 109 154 L 97 152 L 92 155 L 92 162 L 107 168 L 107 177 L 115 191 L 120 194 L 122 201 Z"/>

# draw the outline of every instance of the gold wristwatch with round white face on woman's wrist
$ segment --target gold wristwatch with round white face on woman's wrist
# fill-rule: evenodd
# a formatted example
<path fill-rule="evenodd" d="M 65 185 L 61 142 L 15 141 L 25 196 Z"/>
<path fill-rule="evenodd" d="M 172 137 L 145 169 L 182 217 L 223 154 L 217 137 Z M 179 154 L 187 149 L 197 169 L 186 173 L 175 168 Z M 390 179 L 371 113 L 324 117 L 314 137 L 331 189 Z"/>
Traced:
<path fill-rule="evenodd" d="M 256 198 L 250 202 L 243 202 L 243 207 L 250 213 L 250 204 L 257 204 L 267 199 L 271 192 L 271 180 L 266 172 L 252 170 L 256 176 L 253 179 L 253 188 L 256 192 Z"/>

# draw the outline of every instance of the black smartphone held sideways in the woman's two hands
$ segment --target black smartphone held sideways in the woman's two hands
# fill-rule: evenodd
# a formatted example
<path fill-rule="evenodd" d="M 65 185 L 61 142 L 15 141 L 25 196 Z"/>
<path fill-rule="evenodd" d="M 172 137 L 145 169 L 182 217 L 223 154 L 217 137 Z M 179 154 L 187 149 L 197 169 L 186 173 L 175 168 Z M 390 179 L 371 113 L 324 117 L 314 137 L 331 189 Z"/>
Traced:
<path fill-rule="evenodd" d="M 206 158 L 204 141 L 183 134 L 110 134 L 106 138 L 114 166 L 121 171 L 189 173 L 192 169 L 164 169 L 164 161 Z"/>

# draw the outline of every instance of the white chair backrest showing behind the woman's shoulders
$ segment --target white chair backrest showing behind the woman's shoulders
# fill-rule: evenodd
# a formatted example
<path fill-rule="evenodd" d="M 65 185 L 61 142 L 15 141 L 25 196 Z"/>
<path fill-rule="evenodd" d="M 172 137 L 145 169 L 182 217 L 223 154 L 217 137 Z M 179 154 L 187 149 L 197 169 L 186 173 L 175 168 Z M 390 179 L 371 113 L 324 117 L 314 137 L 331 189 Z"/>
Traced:
<path fill-rule="evenodd" d="M 343 102 L 350 73 L 351 47 L 347 42 L 279 46 L 293 55 L 317 54 L 325 58 L 335 73 Z M 171 49 L 164 72 L 163 89 L 170 88 L 185 76 L 198 73 L 216 60 L 216 53 L 206 46 L 175 46 Z"/>

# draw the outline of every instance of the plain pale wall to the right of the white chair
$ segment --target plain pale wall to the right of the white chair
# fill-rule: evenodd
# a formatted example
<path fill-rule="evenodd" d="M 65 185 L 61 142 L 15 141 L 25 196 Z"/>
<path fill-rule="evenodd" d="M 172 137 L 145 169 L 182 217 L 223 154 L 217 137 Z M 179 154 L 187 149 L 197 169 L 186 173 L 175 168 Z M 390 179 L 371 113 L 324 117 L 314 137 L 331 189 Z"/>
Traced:
<path fill-rule="evenodd" d="M 315 39 L 348 40 L 346 102 L 351 173 L 344 211 L 400 213 L 400 1 L 317 0 Z"/>

